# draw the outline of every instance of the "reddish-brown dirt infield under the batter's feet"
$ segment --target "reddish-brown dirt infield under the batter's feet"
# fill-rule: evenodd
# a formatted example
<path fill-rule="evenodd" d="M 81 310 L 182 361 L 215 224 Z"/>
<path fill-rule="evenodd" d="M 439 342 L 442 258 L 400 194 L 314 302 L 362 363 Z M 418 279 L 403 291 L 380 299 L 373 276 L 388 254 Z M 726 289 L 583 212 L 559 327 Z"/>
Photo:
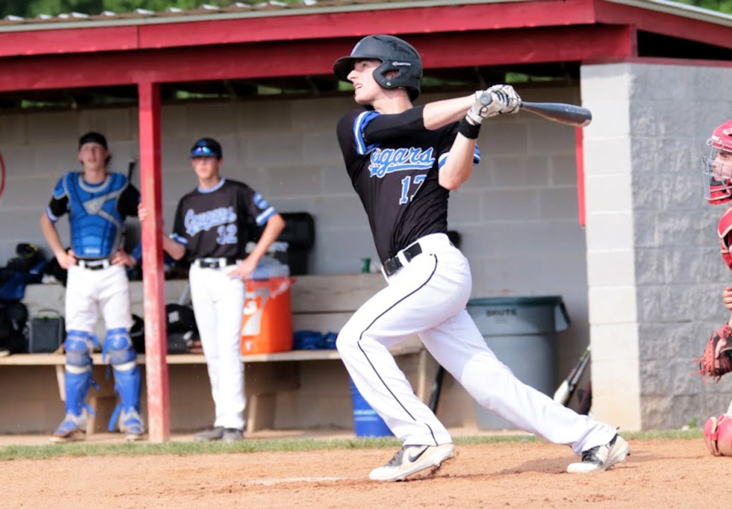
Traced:
<path fill-rule="evenodd" d="M 395 450 L 89 456 L 0 462 L 2 508 L 701 508 L 720 462 L 703 440 L 631 440 L 608 472 L 570 475 L 568 448 L 458 445 L 432 475 L 373 483 Z"/>

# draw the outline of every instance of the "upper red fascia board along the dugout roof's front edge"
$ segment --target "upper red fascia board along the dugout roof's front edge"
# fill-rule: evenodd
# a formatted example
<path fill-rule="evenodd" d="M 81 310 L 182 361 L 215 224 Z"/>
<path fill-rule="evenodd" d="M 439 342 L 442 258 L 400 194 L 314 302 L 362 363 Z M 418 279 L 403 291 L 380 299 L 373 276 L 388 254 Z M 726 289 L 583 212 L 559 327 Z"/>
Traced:
<path fill-rule="evenodd" d="M 247 42 L 434 34 L 595 22 L 594 0 L 534 0 L 354 12 L 0 32 L 0 56 L 89 53 Z"/>

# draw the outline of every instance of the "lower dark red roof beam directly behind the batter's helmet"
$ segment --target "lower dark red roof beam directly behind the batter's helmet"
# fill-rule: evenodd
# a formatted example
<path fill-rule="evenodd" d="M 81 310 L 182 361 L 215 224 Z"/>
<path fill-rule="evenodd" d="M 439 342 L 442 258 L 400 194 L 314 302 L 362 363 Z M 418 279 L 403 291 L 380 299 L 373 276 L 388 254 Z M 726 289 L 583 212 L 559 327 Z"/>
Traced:
<path fill-rule="evenodd" d="M 633 47 L 631 31 L 622 26 L 420 35 L 412 40 L 427 68 L 621 58 L 632 56 Z M 0 91 L 330 75 L 333 62 L 350 51 L 350 41 L 326 39 L 5 59 Z"/>

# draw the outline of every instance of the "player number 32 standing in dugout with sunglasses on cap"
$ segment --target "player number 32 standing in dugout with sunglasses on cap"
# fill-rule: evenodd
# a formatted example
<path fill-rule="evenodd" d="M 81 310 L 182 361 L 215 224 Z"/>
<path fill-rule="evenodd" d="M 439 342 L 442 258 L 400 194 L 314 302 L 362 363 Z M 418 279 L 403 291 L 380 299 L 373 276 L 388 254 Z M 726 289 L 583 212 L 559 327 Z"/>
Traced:
<path fill-rule="evenodd" d="M 242 440 L 244 431 L 244 364 L 239 360 L 244 282 L 285 221 L 250 186 L 220 176 L 223 151 L 216 140 L 198 140 L 190 157 L 198 187 L 178 203 L 173 233 L 163 237 L 163 248 L 176 260 L 190 260 L 193 312 L 209 369 L 216 415 L 213 427 L 195 434 L 195 440 L 233 442 Z M 141 220 L 147 215 L 141 207 Z M 247 255 L 249 218 L 266 226 Z"/>

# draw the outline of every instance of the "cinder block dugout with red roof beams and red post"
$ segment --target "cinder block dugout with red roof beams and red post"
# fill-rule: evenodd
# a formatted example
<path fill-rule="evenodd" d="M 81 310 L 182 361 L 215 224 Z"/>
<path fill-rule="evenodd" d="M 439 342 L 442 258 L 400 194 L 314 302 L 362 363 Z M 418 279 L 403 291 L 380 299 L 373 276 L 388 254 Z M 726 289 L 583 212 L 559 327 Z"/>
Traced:
<path fill-rule="evenodd" d="M 333 126 L 352 101 L 332 63 L 364 27 L 378 26 L 422 53 L 419 103 L 510 81 L 524 99 L 594 113 L 583 131 L 522 113 L 482 132 L 483 171 L 455 192 L 449 212 L 474 295 L 563 295 L 573 324 L 562 333 L 559 373 L 589 339 L 594 413 L 624 429 L 680 426 L 732 395 L 681 377 L 698 356 L 687 338 L 706 331 L 709 309 L 720 312 L 709 287 L 725 276 L 698 261 L 720 265 L 701 231 L 715 219 L 694 201 L 693 168 L 708 132 L 732 110 L 730 16 L 663 0 L 269 2 L 90 14 L 0 22 L 3 258 L 18 241 L 43 245 L 37 216 L 54 178 L 72 169 L 59 161 L 75 160 L 81 132 L 105 132 L 113 170 L 137 160 L 143 197 L 166 225 L 193 186 L 185 150 L 205 132 L 222 141 L 231 176 L 268 192 L 281 211 L 313 214 L 310 274 L 358 272 L 362 257 L 376 256 L 337 153 Z M 143 237 L 157 238 L 162 224 Z M 154 355 L 165 323 L 156 243 L 146 242 L 144 257 Z M 646 367 L 649 357 L 673 369 Z M 151 437 L 162 438 L 165 364 L 152 372 L 148 393 L 163 404 L 148 412 L 157 415 Z M 469 424 L 464 391 L 449 381 L 445 390 L 441 417 Z"/>

